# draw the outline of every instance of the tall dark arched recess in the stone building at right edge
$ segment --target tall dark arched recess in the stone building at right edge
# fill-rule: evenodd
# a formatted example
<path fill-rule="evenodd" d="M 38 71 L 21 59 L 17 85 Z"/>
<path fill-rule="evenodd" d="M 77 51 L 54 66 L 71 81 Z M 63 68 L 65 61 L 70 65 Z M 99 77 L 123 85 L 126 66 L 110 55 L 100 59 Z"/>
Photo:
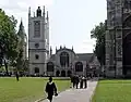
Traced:
<path fill-rule="evenodd" d="M 124 20 L 124 27 L 131 27 L 131 15 Z M 131 29 L 123 29 L 122 38 L 122 73 L 131 77 Z"/>

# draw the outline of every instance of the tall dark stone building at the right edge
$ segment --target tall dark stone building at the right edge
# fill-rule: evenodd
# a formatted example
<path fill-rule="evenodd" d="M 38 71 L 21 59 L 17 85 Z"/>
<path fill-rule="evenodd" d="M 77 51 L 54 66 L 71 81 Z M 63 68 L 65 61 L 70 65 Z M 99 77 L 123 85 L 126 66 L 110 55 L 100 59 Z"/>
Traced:
<path fill-rule="evenodd" d="M 106 76 L 131 76 L 131 0 L 107 0 L 106 29 Z"/>

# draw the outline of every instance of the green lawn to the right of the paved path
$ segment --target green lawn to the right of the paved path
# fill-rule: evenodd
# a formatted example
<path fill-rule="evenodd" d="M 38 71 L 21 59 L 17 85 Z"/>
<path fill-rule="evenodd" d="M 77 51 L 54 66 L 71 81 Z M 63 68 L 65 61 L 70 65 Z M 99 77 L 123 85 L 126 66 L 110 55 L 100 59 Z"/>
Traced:
<path fill-rule="evenodd" d="M 131 102 L 131 80 L 100 80 L 92 102 Z"/>

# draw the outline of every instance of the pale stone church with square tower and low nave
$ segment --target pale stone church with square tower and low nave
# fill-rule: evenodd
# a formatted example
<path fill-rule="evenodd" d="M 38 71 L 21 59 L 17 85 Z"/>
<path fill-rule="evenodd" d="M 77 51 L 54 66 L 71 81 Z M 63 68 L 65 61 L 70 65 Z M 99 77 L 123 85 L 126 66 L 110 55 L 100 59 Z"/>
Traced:
<path fill-rule="evenodd" d="M 75 53 L 73 48 L 60 47 L 56 49 L 56 54 L 52 54 L 51 48 L 49 49 L 49 16 L 45 7 L 43 12 L 38 7 L 34 16 L 31 15 L 31 8 L 28 11 L 28 60 L 29 75 L 86 75 L 87 69 L 99 67 L 93 53 Z"/>

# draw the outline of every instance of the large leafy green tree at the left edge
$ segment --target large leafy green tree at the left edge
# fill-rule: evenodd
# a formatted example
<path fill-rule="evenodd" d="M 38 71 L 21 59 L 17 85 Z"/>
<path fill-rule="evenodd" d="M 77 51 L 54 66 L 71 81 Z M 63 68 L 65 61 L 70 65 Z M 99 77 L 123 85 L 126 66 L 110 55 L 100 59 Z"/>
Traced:
<path fill-rule="evenodd" d="M 8 73 L 8 64 L 5 60 L 13 62 L 17 58 L 17 41 L 16 35 L 16 20 L 14 16 L 8 16 L 5 12 L 0 9 L 0 58 L 4 60 L 5 71 Z"/>

